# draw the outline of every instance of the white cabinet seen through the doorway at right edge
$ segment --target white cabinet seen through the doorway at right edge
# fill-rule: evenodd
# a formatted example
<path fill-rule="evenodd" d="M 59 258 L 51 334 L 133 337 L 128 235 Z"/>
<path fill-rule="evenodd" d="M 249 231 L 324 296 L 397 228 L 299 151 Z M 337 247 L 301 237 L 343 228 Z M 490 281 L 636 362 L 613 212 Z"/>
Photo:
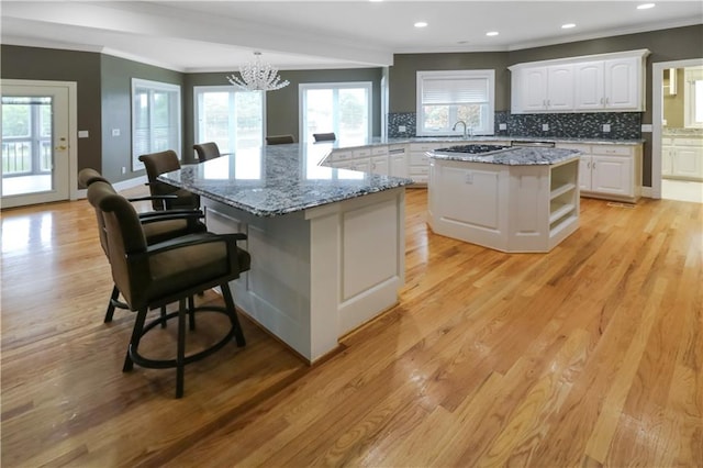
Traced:
<path fill-rule="evenodd" d="M 703 181 L 703 138 L 661 138 L 661 175 L 670 179 Z"/>

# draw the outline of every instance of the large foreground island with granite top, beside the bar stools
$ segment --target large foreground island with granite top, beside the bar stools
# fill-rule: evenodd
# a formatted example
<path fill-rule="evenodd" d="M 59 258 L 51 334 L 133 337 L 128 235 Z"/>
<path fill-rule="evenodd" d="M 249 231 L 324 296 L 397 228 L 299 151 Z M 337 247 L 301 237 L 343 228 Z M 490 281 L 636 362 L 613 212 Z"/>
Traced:
<path fill-rule="evenodd" d="M 237 307 L 308 363 L 398 302 L 411 179 L 321 167 L 328 145 L 238 149 L 161 175 L 201 196 L 208 229 L 243 232 Z"/>

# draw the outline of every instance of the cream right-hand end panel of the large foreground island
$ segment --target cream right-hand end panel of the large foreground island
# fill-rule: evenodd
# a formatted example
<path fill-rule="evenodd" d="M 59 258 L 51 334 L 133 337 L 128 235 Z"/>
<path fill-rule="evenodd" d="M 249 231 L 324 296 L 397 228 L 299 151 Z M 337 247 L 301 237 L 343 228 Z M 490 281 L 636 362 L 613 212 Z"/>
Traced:
<path fill-rule="evenodd" d="M 338 316 L 336 336 L 353 331 L 398 303 L 405 278 L 405 189 L 371 193 L 308 210 L 312 222 L 312 314 L 324 314 L 332 279 Z M 334 224 L 325 222 L 331 215 Z M 335 257 L 317 245 L 337 238 Z M 336 265 L 336 272 L 328 266 Z M 313 333 L 313 341 L 315 339 Z"/>

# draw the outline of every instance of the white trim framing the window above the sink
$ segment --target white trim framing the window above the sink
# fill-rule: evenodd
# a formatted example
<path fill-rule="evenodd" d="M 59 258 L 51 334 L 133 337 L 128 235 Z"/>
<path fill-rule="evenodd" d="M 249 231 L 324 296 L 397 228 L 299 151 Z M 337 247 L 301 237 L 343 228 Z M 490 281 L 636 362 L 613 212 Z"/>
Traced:
<path fill-rule="evenodd" d="M 460 130 L 442 130 L 438 132 L 428 132 L 424 131 L 423 122 L 424 122 L 424 112 L 423 112 L 423 103 L 422 103 L 422 92 L 423 92 L 423 83 L 425 79 L 456 79 L 456 78 L 465 78 L 465 79 L 476 79 L 476 78 L 484 78 L 488 80 L 488 115 L 487 115 L 487 131 L 480 131 L 475 133 L 477 135 L 494 135 L 495 130 L 494 118 L 495 118 L 495 70 L 494 69 L 476 69 L 476 70 L 433 70 L 433 71 L 423 71 L 419 70 L 416 73 L 416 89 L 415 89 L 415 135 L 416 136 L 462 136 L 464 129 Z"/>

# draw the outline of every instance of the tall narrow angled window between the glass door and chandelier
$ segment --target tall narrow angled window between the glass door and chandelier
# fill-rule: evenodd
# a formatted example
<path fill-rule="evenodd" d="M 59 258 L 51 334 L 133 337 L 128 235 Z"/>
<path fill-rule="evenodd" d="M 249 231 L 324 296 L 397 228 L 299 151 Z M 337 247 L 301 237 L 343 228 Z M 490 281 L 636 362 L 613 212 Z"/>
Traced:
<path fill-rule="evenodd" d="M 132 170 L 138 157 L 174 149 L 180 153 L 180 86 L 132 79 Z"/>

